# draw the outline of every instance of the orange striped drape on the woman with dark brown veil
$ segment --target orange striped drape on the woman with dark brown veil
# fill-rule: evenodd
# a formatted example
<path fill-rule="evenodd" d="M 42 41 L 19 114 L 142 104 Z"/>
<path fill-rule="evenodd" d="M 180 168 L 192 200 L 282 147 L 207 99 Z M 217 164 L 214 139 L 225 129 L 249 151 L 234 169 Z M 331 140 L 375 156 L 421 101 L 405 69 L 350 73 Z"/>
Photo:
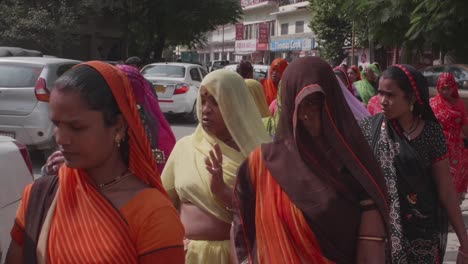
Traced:
<path fill-rule="evenodd" d="M 257 250 L 250 263 L 333 263 L 326 259 L 302 212 L 291 202 L 266 168 L 257 148 L 249 157 L 256 194 Z"/>

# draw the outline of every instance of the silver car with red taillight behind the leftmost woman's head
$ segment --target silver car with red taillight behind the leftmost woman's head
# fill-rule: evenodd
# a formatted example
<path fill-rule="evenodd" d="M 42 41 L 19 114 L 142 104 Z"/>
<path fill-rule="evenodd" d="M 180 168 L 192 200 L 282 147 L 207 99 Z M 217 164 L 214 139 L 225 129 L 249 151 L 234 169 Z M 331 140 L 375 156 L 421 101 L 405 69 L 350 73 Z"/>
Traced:
<path fill-rule="evenodd" d="M 0 135 L 48 156 L 56 147 L 49 120 L 55 80 L 79 61 L 44 57 L 0 58 Z"/>

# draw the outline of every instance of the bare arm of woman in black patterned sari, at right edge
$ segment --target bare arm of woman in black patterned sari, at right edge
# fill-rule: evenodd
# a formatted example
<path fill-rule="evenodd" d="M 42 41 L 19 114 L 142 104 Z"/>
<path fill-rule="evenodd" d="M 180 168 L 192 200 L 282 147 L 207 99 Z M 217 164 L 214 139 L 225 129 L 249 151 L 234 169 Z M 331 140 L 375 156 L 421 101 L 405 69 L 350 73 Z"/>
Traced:
<path fill-rule="evenodd" d="M 435 163 L 432 166 L 432 172 L 437 185 L 439 200 L 447 211 L 450 224 L 457 234 L 458 241 L 460 242 L 460 250 L 464 253 L 468 253 L 468 236 L 459 201 L 450 176 L 448 159 Z"/>

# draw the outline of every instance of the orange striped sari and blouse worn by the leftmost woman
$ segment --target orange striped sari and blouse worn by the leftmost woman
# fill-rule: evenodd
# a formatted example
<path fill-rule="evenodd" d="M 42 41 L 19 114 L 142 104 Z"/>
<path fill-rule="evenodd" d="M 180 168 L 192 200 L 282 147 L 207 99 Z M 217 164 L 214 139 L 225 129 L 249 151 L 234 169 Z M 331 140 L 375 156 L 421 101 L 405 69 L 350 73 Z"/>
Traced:
<path fill-rule="evenodd" d="M 39 240 L 45 241 L 42 243 L 44 248 L 39 248 L 40 243 L 39 246 L 36 245 L 40 254 L 37 255 L 37 259 L 34 256 L 33 259 L 29 258 L 30 263 L 139 263 L 143 254 L 151 255 L 154 250 L 164 250 L 168 247 L 178 248 L 179 253 L 183 254 L 183 227 L 162 187 L 129 79 L 122 71 L 106 63 L 87 62 L 77 67 L 83 67 L 82 65 L 92 67 L 102 75 L 128 123 L 129 170 L 149 186 L 145 195 L 150 195 L 145 197 L 158 199 L 151 202 L 155 207 L 146 215 L 142 215 L 149 217 L 152 213 L 163 212 L 157 211 L 158 208 L 165 208 L 167 217 L 162 217 L 159 222 L 152 221 L 151 218 L 141 219 L 145 226 L 132 226 L 133 222 L 130 223 L 124 217 L 123 209 L 114 207 L 98 190 L 85 170 L 64 165 L 57 176 L 58 188 L 54 202 L 48 209 L 48 222 L 43 225 L 47 230 L 42 230 L 39 237 Z M 137 194 L 135 198 L 139 196 L 140 194 Z M 24 203 L 27 204 L 26 201 Z M 27 216 L 27 206 L 20 207 L 20 218 Z M 21 221 L 24 221 L 24 218 Z M 25 224 L 27 226 L 27 223 Z M 135 230 L 145 230 L 147 227 L 155 229 L 147 229 L 153 237 L 144 240 Z M 28 237 L 27 232 L 26 229 L 25 240 L 38 239 Z M 29 257 L 35 253 L 25 252 L 25 255 Z"/>

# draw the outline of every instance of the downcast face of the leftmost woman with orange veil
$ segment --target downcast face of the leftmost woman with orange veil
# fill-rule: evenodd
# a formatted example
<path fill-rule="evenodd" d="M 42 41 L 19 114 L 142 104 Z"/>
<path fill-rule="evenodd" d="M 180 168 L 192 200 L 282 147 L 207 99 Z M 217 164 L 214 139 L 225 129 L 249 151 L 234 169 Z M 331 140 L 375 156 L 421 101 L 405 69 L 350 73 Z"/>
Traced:
<path fill-rule="evenodd" d="M 104 114 L 88 109 L 78 93 L 57 89 L 50 96 L 49 116 L 68 167 L 93 169 L 112 157 L 120 157 L 116 138 L 125 135 L 126 123 L 122 117 L 117 124 L 106 126 Z"/>

